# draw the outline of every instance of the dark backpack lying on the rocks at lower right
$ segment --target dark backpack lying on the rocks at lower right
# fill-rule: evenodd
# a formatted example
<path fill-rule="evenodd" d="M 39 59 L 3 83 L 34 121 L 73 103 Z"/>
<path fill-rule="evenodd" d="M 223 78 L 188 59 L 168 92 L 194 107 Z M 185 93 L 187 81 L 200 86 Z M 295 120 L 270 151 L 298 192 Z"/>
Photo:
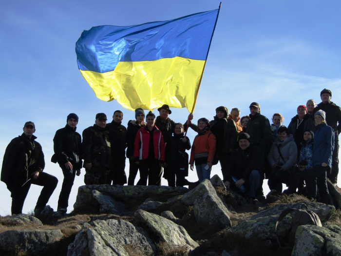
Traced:
<path fill-rule="evenodd" d="M 304 206 L 305 210 L 294 209 L 294 208 L 284 209 L 283 212 L 278 217 L 277 222 L 276 222 L 276 227 L 275 227 L 275 233 L 276 233 L 277 242 L 280 245 L 280 247 L 281 247 L 280 241 L 282 241 L 282 243 L 284 243 L 284 245 L 286 247 L 294 248 L 296 230 L 301 225 L 314 225 L 314 226 L 322 227 L 320 217 L 316 213 L 314 213 L 313 211 L 308 210 L 308 207 L 305 204 L 303 204 L 303 206 Z M 289 242 L 286 243 L 283 240 L 283 238 L 277 234 L 277 226 L 278 226 L 279 222 L 287 214 L 289 214 L 293 211 L 295 212 L 295 216 L 292 219 L 292 223 L 291 223 L 291 227 L 290 227 L 291 231 L 290 231 L 290 236 L 289 236 Z"/>

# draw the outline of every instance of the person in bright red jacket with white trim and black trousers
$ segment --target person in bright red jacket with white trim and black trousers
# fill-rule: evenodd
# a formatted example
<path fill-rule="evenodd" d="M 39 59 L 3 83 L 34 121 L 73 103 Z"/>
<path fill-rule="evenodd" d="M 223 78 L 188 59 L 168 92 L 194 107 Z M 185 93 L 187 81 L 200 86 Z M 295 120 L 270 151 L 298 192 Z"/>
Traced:
<path fill-rule="evenodd" d="M 138 130 L 134 144 L 135 163 L 139 165 L 140 180 L 136 185 L 156 185 L 156 173 L 165 161 L 165 143 L 160 130 L 155 126 L 155 115 L 150 111 L 147 126 Z"/>

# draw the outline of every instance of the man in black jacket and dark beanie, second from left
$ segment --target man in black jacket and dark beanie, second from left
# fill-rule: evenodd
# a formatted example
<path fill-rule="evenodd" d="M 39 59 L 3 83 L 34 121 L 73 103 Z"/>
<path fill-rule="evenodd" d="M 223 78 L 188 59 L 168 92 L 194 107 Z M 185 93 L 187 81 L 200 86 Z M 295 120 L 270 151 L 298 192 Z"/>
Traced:
<path fill-rule="evenodd" d="M 77 124 L 78 116 L 75 113 L 69 114 L 66 118 L 65 127 L 57 130 L 55 138 L 53 138 L 55 154 L 52 156 L 51 162 L 58 162 L 64 175 L 57 208 L 57 212 L 62 214 L 67 211 L 75 176 L 80 175 L 82 168 L 80 151 L 82 139 L 80 134 L 76 132 Z"/>

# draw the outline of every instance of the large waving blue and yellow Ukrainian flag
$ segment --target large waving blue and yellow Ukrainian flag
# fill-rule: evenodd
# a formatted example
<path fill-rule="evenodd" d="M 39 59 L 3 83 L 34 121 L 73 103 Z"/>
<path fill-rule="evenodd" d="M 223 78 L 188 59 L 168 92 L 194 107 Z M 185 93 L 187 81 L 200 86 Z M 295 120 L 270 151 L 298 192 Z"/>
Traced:
<path fill-rule="evenodd" d="M 96 26 L 76 42 L 78 68 L 97 98 L 193 112 L 219 9 L 134 26 Z"/>

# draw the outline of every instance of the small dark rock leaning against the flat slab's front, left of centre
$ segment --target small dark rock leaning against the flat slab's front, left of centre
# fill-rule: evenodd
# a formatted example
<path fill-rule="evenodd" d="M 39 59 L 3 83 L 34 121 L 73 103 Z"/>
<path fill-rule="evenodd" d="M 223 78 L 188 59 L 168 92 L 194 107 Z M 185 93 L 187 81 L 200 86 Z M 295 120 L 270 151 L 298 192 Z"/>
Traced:
<path fill-rule="evenodd" d="M 99 211 L 101 213 L 116 214 L 119 216 L 129 215 L 129 211 L 124 203 L 116 201 L 111 196 L 103 195 L 97 190 L 93 190 L 92 194 L 100 204 Z"/>

